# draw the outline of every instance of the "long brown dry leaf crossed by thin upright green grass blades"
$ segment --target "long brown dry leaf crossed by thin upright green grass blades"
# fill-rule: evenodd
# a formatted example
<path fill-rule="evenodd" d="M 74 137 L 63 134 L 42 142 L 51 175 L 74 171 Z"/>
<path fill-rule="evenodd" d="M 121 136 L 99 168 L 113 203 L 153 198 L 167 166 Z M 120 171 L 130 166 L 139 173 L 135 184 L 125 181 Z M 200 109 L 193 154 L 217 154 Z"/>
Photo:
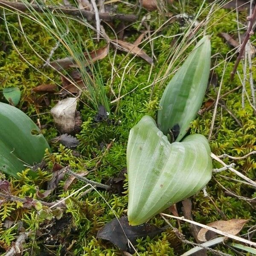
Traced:
<path fill-rule="evenodd" d="M 109 44 L 96 51 L 89 52 L 89 54 L 87 52 L 84 52 L 84 57 L 86 60 L 84 61 L 84 67 L 87 67 L 93 62 L 99 61 L 105 58 L 108 55 L 108 52 L 109 52 Z M 70 67 L 79 67 L 79 65 L 76 64 L 75 60 L 72 57 L 66 57 L 63 59 L 52 61 L 50 65 L 54 67 L 56 70 L 62 70 L 62 69 L 66 70 L 66 69 L 69 69 Z"/>

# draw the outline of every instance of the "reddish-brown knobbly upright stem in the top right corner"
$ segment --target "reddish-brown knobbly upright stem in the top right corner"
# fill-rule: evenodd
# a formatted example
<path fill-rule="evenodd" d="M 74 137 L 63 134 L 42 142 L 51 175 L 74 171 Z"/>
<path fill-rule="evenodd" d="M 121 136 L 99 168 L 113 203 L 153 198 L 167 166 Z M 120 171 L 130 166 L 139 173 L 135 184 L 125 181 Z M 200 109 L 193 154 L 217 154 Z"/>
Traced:
<path fill-rule="evenodd" d="M 233 78 L 235 76 L 235 73 L 236 73 L 236 70 L 237 70 L 237 67 L 238 67 L 238 64 L 239 64 L 241 58 L 243 57 L 244 49 L 245 49 L 245 46 L 247 44 L 247 41 L 249 40 L 250 36 L 253 35 L 253 33 L 254 33 L 252 29 L 253 29 L 253 23 L 256 20 L 256 6 L 254 6 L 253 14 L 251 16 L 248 16 L 247 20 L 250 21 L 250 23 L 249 23 L 246 35 L 244 37 L 244 41 L 241 44 L 241 49 L 240 49 L 239 55 L 236 58 L 236 63 L 235 63 L 235 65 L 233 67 L 233 70 L 231 72 L 231 76 L 230 76 L 231 80 L 233 80 Z"/>

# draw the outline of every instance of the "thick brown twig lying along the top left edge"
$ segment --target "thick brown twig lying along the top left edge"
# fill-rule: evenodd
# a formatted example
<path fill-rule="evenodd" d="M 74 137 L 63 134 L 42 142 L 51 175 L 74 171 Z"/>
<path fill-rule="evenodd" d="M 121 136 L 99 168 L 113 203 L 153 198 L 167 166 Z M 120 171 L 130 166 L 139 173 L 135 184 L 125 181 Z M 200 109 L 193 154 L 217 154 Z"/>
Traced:
<path fill-rule="evenodd" d="M 29 9 L 35 10 L 37 12 L 45 12 L 48 11 L 54 11 L 56 13 L 60 14 L 67 14 L 67 15 L 73 15 L 73 16 L 82 16 L 86 18 L 88 21 L 95 20 L 95 13 L 86 11 L 84 9 L 77 9 L 71 6 L 46 6 L 46 5 L 38 5 L 38 4 L 25 4 L 22 2 L 12 2 L 12 1 L 6 1 L 6 0 L 0 0 L 0 6 L 12 9 L 16 11 L 28 11 Z M 131 15 L 131 14 L 122 14 L 122 13 L 116 13 L 116 14 L 110 14 L 110 13 L 100 13 L 99 18 L 101 20 L 105 21 L 113 21 L 113 20 L 122 20 L 122 21 L 128 21 L 128 22 L 134 22 L 137 20 L 137 15 Z"/>

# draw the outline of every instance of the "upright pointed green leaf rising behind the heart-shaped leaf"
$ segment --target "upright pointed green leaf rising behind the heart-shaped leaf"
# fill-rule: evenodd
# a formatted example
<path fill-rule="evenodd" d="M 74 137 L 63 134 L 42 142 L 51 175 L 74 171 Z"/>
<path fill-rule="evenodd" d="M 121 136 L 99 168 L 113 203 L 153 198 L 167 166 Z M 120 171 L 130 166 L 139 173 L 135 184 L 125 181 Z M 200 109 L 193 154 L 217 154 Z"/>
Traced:
<path fill-rule="evenodd" d="M 209 37 L 202 38 L 186 58 L 164 90 L 157 113 L 157 124 L 163 134 L 179 125 L 176 141 L 186 134 L 190 122 L 200 109 L 210 72 L 211 45 Z"/>

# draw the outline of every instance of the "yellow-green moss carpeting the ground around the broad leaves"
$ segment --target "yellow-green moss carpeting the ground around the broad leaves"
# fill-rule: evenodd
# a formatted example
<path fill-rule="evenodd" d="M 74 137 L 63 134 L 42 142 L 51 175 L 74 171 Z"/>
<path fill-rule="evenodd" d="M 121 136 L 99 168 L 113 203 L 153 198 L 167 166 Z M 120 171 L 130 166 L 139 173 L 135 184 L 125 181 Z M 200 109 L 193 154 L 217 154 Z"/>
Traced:
<path fill-rule="evenodd" d="M 192 3 L 190 3 L 192 2 Z M 183 12 L 186 12 L 191 17 L 195 17 L 201 1 L 189 1 L 184 6 Z M 198 20 L 202 20 L 209 13 L 209 3 L 204 4 L 204 8 L 207 10 L 198 17 Z M 169 6 L 170 12 L 179 13 L 179 5 L 176 3 L 176 8 Z M 131 13 L 133 10 L 127 7 L 125 4 L 118 3 L 117 10 L 119 12 Z M 148 15 L 148 12 L 142 10 L 140 12 L 140 20 L 143 15 Z M 246 11 L 239 13 L 239 19 L 241 22 L 245 22 Z M 1 16 L 3 17 L 3 16 Z M 18 108 L 23 110 L 28 116 L 30 116 L 35 122 L 39 119 L 42 125 L 42 132 L 50 142 L 52 138 L 58 136 L 58 131 L 54 127 L 53 118 L 50 115 L 50 109 L 60 99 L 59 95 L 48 94 L 42 96 L 37 93 L 33 93 L 32 89 L 40 84 L 51 83 L 50 79 L 56 83 L 61 83 L 60 76 L 56 75 L 50 68 L 41 69 L 42 61 L 35 55 L 35 52 L 31 50 L 26 41 L 17 32 L 20 29 L 17 22 L 17 15 L 8 14 L 6 19 L 9 22 L 9 32 L 12 35 L 12 39 L 15 42 L 17 49 L 23 54 L 23 56 L 38 70 L 42 70 L 47 74 L 48 78 L 42 75 L 40 72 L 30 67 L 20 55 L 15 51 L 10 41 L 9 35 L 6 32 L 6 25 L 3 19 L 0 20 L 0 38 L 2 46 L 0 48 L 0 81 L 2 87 L 17 86 L 21 90 L 21 100 L 17 105 Z M 26 18 L 21 18 L 23 23 L 23 29 L 26 32 L 27 38 L 36 42 L 33 44 L 35 50 L 38 51 L 44 58 L 47 58 L 54 46 L 55 42 L 49 36 L 49 34 L 42 29 L 39 25 L 33 23 Z M 150 19 L 147 24 L 151 29 L 159 28 L 165 21 L 166 17 L 160 12 L 154 11 L 150 13 Z M 184 21 L 183 21 L 184 22 Z M 189 21 L 186 21 L 189 22 Z M 186 23 L 185 22 L 185 23 Z M 84 26 L 80 26 L 74 22 L 77 32 L 82 35 L 82 38 L 86 43 L 84 47 L 88 51 L 93 47 L 100 47 L 103 42 L 96 43 L 96 41 L 88 40 L 91 35 L 88 34 L 88 30 Z M 26 196 L 37 198 L 36 192 L 44 191 L 46 189 L 46 183 L 52 178 L 52 168 L 55 163 L 61 166 L 70 165 L 76 172 L 81 170 L 87 170 L 87 178 L 101 183 L 106 183 L 111 177 L 116 177 L 119 172 L 126 167 L 126 144 L 130 129 L 137 124 L 141 117 L 145 114 L 152 117 L 156 117 L 158 102 L 163 93 L 166 83 L 153 83 L 157 78 L 160 71 L 167 69 L 166 56 L 171 52 L 175 38 L 173 35 L 183 32 L 182 21 L 176 20 L 175 22 L 167 22 L 165 26 L 159 32 L 161 35 L 154 39 L 154 55 L 156 60 L 154 61 L 154 67 L 147 64 L 141 58 L 134 58 L 132 55 L 126 55 L 126 53 L 118 52 L 115 54 L 113 48 L 110 49 L 109 58 L 104 58 L 99 61 L 99 64 L 95 65 L 96 70 L 101 73 L 103 84 L 109 102 L 114 100 L 113 92 L 120 96 L 125 95 L 117 102 L 110 104 L 111 111 L 107 120 L 102 122 L 95 122 L 94 116 L 97 111 L 93 108 L 93 105 L 88 101 L 86 93 L 81 95 L 81 100 L 86 102 L 79 102 L 78 110 L 81 112 L 82 129 L 76 137 L 79 139 L 80 144 L 76 148 L 78 154 L 74 154 L 73 150 L 65 148 L 63 145 L 56 145 L 52 143 L 52 153 L 48 151 L 45 154 L 45 161 L 47 168 L 44 170 L 38 170 L 38 177 L 32 178 L 28 175 L 29 170 L 24 170 L 18 179 L 12 177 L 6 177 L 10 181 L 12 194 L 24 198 Z M 15 29 L 16 28 L 16 29 Z M 140 22 L 135 23 L 130 29 L 140 29 Z M 237 29 L 236 12 L 230 12 L 229 9 L 222 9 L 215 7 L 214 15 L 211 15 L 206 28 L 201 28 L 201 32 L 205 31 L 211 35 L 212 45 L 212 67 L 217 66 L 214 71 L 218 76 L 218 86 L 221 80 L 221 76 L 225 67 L 224 59 L 230 51 L 230 46 L 219 36 L 220 32 L 232 33 Z M 108 31 L 108 30 L 107 30 Z M 199 31 L 200 32 L 200 31 Z M 243 31 L 244 32 L 244 31 Z M 91 32 L 93 33 L 93 32 Z M 126 38 L 129 42 L 134 42 L 140 35 L 139 32 L 131 33 L 129 38 Z M 159 34 L 157 34 L 159 35 Z M 256 39 L 255 35 L 251 40 Z M 36 48 L 36 46 L 40 46 Z M 44 52 L 42 52 L 42 48 Z M 146 44 L 143 48 L 148 55 L 151 55 L 150 44 Z M 175 62 L 172 67 L 178 67 L 181 60 L 186 53 L 192 49 L 188 47 L 186 52 Z M 65 57 L 61 49 L 57 49 L 54 58 Z M 114 68 L 117 70 L 116 76 L 111 79 L 111 61 L 114 59 Z M 238 76 L 235 76 L 233 81 L 230 81 L 230 72 L 233 68 L 233 63 L 236 60 L 236 55 L 231 58 L 230 63 L 227 65 L 224 73 L 223 82 L 221 85 L 221 95 L 230 92 L 234 88 L 241 85 L 241 81 Z M 151 70 L 152 69 L 152 70 Z M 253 66 L 255 71 L 255 66 Z M 124 72 L 124 75 L 123 75 Z M 239 72 L 242 73 L 242 66 L 239 66 Z M 151 75 L 149 75 L 151 74 Z M 253 72 L 253 78 L 256 79 L 256 72 Z M 168 81 L 166 79 L 166 81 Z M 144 87 L 152 84 L 152 86 L 143 89 Z M 213 85 L 209 86 L 207 95 L 204 102 L 209 99 L 216 99 L 218 88 Z M 134 90 L 134 88 L 136 88 Z M 249 83 L 246 84 L 246 89 L 250 91 Z M 112 92 L 113 90 L 113 92 Z M 132 92 L 131 92 L 132 91 Z M 216 155 L 229 154 L 232 156 L 243 156 L 250 151 L 256 150 L 256 117 L 253 113 L 253 108 L 246 100 L 244 108 L 241 103 L 242 87 L 237 90 L 227 93 L 222 100 L 225 103 L 226 108 L 218 106 L 215 118 L 215 125 L 210 138 L 211 150 Z M 5 102 L 3 96 L 0 99 Z M 239 126 L 236 119 L 227 112 L 227 109 L 232 112 L 241 126 Z M 197 119 L 192 122 L 191 134 L 203 134 L 208 137 L 210 127 L 212 123 L 213 107 L 208 111 L 205 111 L 201 115 L 198 115 Z M 226 163 L 231 163 L 227 158 L 224 159 Z M 252 180 L 256 178 L 256 160 L 251 156 L 241 160 L 236 160 L 236 169 L 242 172 L 244 175 Z M 222 167 L 216 162 L 213 162 L 214 168 Z M 256 224 L 255 208 L 253 204 L 248 203 L 241 198 L 236 198 L 227 193 L 223 187 L 232 191 L 236 195 L 254 198 L 256 197 L 255 190 L 251 189 L 243 183 L 239 183 L 234 180 L 229 180 L 223 175 L 239 179 L 236 175 L 229 171 L 224 173 L 214 174 L 212 180 L 207 185 L 208 197 L 204 197 L 203 192 L 199 192 L 192 197 L 192 214 L 195 221 L 203 224 L 210 223 L 212 221 L 231 218 L 243 218 L 250 219 L 245 227 L 249 227 Z M 1 179 L 4 179 L 2 175 Z M 218 182 L 217 182 L 217 181 Z M 70 186 L 66 191 L 64 190 L 64 180 L 61 180 L 58 184 L 55 192 L 51 193 L 46 199 L 47 201 L 55 201 L 59 198 L 65 198 L 72 192 L 84 186 L 84 183 L 77 181 Z M 12 220 L 16 223 L 23 221 L 24 228 L 32 233 L 26 242 L 27 251 L 24 255 L 84 255 L 84 256 L 114 256 L 123 255 L 123 253 L 112 244 L 96 239 L 97 231 L 104 226 L 105 223 L 115 218 L 114 213 L 120 217 L 125 215 L 127 209 L 128 196 L 127 196 L 127 180 L 124 184 L 125 191 L 119 195 L 111 192 L 100 190 L 99 192 L 91 191 L 84 196 L 81 192 L 73 195 L 66 200 L 67 209 L 63 213 L 63 217 L 59 220 L 58 224 L 63 228 L 54 234 L 52 239 L 46 241 L 45 233 L 51 230 L 49 224 L 52 222 L 47 220 L 45 216 L 38 216 L 35 209 L 26 209 L 22 207 L 20 202 L 1 202 L 0 218 L 2 221 L 0 229 L 0 246 L 1 252 L 4 252 L 8 248 L 12 241 L 15 241 L 15 236 L 18 232 L 18 225 L 14 225 L 9 229 L 4 227 L 3 223 L 6 220 Z M 178 209 L 179 209 L 178 204 Z M 166 213 L 169 212 L 167 209 Z M 62 222 L 61 222 L 62 220 Z M 57 220 L 56 220 L 57 221 Z M 159 227 L 163 227 L 165 221 L 159 216 L 155 216 L 150 220 L 151 224 L 156 224 Z M 177 227 L 177 221 L 172 220 L 171 223 Z M 47 226 L 48 225 L 48 226 Z M 192 235 L 189 233 L 189 225 L 180 223 L 180 228 L 187 239 L 194 241 Z M 35 230 L 41 230 L 41 233 L 35 232 Z M 48 230 L 48 231 L 47 231 Z M 245 232 L 245 231 L 244 231 Z M 182 244 L 178 241 L 177 237 L 171 229 L 167 229 L 165 232 L 156 236 L 154 239 L 142 238 L 137 240 L 137 250 L 141 256 L 164 256 L 164 255 L 180 255 L 183 251 L 188 250 L 190 247 L 186 244 Z M 230 255 L 237 255 L 236 252 L 228 247 L 219 245 L 215 247 L 218 250 L 229 253 Z M 48 254 L 47 254 L 48 253 Z M 247 254 L 249 255 L 249 254 Z"/>

